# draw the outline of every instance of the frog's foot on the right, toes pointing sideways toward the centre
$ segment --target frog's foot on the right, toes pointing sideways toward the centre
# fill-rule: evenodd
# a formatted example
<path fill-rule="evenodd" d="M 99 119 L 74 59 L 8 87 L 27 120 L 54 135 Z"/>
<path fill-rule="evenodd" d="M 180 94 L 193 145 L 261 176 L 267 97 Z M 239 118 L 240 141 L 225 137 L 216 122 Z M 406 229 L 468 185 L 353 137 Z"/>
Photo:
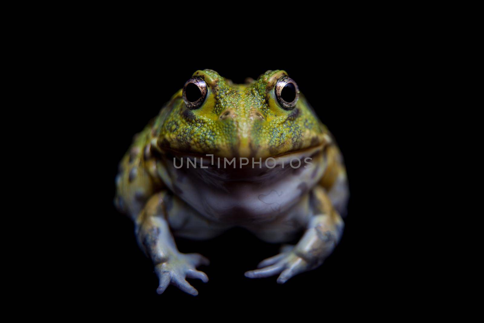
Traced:
<path fill-rule="evenodd" d="M 264 278 L 279 275 L 277 283 L 284 284 L 289 278 L 297 274 L 316 268 L 319 264 L 308 263 L 304 258 L 294 252 L 294 246 L 283 246 L 281 253 L 273 257 L 264 259 L 256 270 L 245 273 L 245 277 Z"/>

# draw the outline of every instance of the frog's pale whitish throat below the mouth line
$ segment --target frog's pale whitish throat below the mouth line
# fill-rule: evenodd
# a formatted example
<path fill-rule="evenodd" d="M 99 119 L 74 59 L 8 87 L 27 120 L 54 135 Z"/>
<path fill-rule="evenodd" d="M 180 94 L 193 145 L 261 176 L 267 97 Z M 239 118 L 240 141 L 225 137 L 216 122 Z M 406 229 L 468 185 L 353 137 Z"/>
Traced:
<path fill-rule="evenodd" d="M 305 162 L 306 157 L 312 164 Z M 206 218 L 227 224 L 245 225 L 272 221 L 283 217 L 309 189 L 321 178 L 326 167 L 320 148 L 275 158 L 275 167 L 266 167 L 264 161 L 261 168 L 252 163 L 236 169 L 227 165 L 224 169 L 223 160 L 220 168 L 217 160 L 214 167 L 200 168 L 200 158 L 197 158 L 197 168 L 192 164 L 187 168 L 186 156 L 183 166 L 175 168 L 173 159 L 164 160 L 164 169 L 160 171 L 163 181 L 168 187 Z M 293 158 L 301 160 L 299 168 L 292 168 L 289 161 Z M 193 157 L 191 157 L 194 160 Z M 258 160 L 256 160 L 257 162 Z M 244 161 L 245 162 L 245 161 Z M 211 157 L 204 157 L 203 163 L 210 165 Z M 268 161 L 272 167 L 273 161 Z M 299 163 L 293 160 L 293 166 Z M 176 166 L 180 166 L 177 159 Z"/>

